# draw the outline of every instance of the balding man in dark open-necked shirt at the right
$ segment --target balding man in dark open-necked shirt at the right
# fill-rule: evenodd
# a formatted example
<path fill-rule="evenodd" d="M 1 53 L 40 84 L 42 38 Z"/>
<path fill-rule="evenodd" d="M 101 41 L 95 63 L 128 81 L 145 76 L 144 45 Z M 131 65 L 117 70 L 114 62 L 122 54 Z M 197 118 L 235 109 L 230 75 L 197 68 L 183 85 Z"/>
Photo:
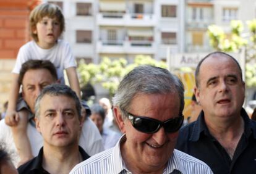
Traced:
<path fill-rule="evenodd" d="M 213 52 L 195 70 L 198 119 L 179 131 L 176 148 L 214 173 L 255 173 L 256 122 L 242 108 L 245 84 L 236 59 Z"/>

